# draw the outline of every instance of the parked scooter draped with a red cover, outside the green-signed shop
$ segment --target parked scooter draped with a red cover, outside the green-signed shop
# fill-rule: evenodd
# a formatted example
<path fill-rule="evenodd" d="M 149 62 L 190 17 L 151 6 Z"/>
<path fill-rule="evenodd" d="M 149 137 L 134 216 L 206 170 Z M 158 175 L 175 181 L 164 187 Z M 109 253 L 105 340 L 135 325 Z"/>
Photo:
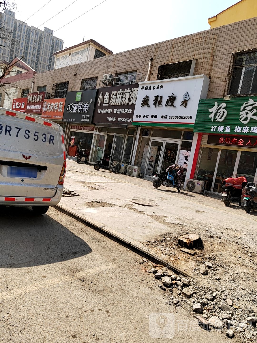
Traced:
<path fill-rule="evenodd" d="M 225 206 L 229 206 L 232 202 L 237 202 L 241 206 L 242 189 L 247 185 L 247 180 L 244 176 L 228 177 L 222 181 L 221 200 Z"/>

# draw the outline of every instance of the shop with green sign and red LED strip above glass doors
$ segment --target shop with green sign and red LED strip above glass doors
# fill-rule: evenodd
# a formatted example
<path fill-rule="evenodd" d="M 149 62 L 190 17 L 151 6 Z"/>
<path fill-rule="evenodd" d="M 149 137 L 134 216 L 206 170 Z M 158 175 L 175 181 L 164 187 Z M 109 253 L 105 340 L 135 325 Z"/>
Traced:
<path fill-rule="evenodd" d="M 256 108 L 256 96 L 200 100 L 194 127 L 200 146 L 192 174 L 205 181 L 207 192 L 220 193 L 228 177 L 245 176 L 256 184 Z"/>

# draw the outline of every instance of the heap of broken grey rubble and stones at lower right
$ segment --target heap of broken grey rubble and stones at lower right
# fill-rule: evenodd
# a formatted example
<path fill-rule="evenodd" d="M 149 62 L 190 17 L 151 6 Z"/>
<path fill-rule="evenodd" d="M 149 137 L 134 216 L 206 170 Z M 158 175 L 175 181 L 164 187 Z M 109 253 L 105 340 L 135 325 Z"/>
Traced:
<path fill-rule="evenodd" d="M 210 275 L 214 268 L 208 258 L 201 263 L 198 272 Z M 203 268 L 205 267 L 205 269 Z M 229 282 L 227 287 L 218 286 L 219 276 L 212 272 L 213 285 L 199 283 L 194 279 L 187 279 L 183 275 L 176 275 L 166 268 L 152 268 L 148 270 L 154 274 L 158 286 L 165 292 L 170 305 L 182 306 L 198 320 L 198 324 L 205 330 L 222 330 L 229 338 L 240 338 L 243 342 L 257 342 L 257 291 L 246 291 Z M 241 299 L 244 299 L 242 302 Z M 252 304 L 253 306 L 251 306 Z"/>

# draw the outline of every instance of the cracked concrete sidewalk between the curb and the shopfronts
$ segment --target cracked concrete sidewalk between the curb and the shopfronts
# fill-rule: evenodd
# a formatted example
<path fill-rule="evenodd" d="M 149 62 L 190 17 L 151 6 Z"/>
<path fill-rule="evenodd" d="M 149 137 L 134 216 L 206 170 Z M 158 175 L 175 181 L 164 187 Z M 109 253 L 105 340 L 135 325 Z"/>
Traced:
<path fill-rule="evenodd" d="M 231 220 L 233 230 L 241 234 L 242 221 L 247 231 L 255 231 L 257 213 L 247 214 L 238 205 L 225 207 L 219 199 L 184 190 L 178 193 L 163 186 L 155 189 L 150 181 L 96 171 L 93 166 L 71 160 L 67 165 L 64 186 L 80 196 L 62 198 L 60 205 L 142 243 L 181 226 L 185 232 L 198 232 L 205 225 L 219 230 L 223 225 L 228 227 Z M 151 201 L 155 206 L 133 201 Z"/>

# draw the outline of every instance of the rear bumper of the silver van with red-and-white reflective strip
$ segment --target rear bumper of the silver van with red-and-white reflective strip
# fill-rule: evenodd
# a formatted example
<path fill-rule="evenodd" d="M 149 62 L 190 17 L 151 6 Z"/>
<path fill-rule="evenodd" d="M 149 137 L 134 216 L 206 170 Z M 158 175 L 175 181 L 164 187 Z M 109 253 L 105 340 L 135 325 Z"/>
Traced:
<path fill-rule="evenodd" d="M 0 196 L 0 205 L 8 206 L 54 206 L 57 205 L 62 198 L 63 185 L 57 186 L 56 194 L 52 198 L 42 197 L 2 197 Z"/>

